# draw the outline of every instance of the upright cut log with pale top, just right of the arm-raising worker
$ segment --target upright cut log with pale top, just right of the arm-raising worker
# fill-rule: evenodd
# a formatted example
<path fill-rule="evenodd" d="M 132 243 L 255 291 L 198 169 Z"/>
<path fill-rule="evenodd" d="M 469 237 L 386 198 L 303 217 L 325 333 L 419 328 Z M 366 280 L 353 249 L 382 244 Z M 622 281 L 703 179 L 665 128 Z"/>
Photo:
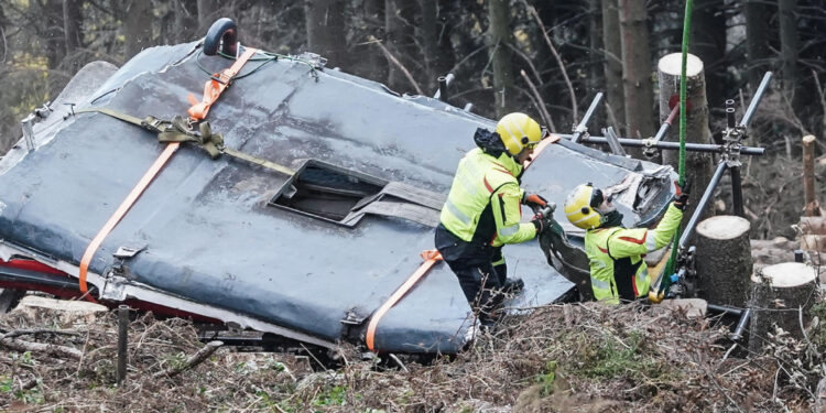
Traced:
<path fill-rule="evenodd" d="M 751 224 L 721 215 L 697 225 L 696 269 L 698 295 L 711 304 L 742 307 L 752 272 Z"/>

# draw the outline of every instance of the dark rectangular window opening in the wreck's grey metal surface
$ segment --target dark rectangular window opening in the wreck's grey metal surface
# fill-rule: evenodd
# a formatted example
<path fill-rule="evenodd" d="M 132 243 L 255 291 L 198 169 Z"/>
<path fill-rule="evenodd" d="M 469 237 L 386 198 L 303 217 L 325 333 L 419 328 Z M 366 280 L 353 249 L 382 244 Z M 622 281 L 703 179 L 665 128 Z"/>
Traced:
<path fill-rule="evenodd" d="M 354 209 L 376 199 L 387 181 L 311 160 L 269 205 L 352 227 L 363 217 Z"/>

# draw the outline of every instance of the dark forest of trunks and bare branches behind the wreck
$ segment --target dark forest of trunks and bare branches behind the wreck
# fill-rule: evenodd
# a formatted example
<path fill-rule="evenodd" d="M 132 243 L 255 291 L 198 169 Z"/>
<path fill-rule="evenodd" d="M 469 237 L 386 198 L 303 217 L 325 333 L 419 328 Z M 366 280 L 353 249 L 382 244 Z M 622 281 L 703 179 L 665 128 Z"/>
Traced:
<path fill-rule="evenodd" d="M 725 100 L 735 99 L 741 113 L 763 73 L 775 74 L 748 142 L 771 154 L 749 161 L 743 187 L 752 238 L 792 236 L 786 224 L 803 203 L 801 185 L 793 185 L 800 140 L 826 131 L 826 0 L 694 3 L 689 51 L 705 64 L 715 139 L 725 127 Z M 238 23 L 243 44 L 315 52 L 327 67 L 399 93 L 432 96 L 437 78 L 452 73 L 453 105 L 472 104 L 492 119 L 525 111 L 561 133 L 604 91 L 591 133 L 611 126 L 648 138 L 662 121 L 656 62 L 680 51 L 684 7 L 676 0 L 0 0 L 0 151 L 20 138 L 20 120 L 86 63 L 121 66 L 145 47 L 199 39 L 221 17 Z M 730 208 L 725 200 L 717 207 Z"/>

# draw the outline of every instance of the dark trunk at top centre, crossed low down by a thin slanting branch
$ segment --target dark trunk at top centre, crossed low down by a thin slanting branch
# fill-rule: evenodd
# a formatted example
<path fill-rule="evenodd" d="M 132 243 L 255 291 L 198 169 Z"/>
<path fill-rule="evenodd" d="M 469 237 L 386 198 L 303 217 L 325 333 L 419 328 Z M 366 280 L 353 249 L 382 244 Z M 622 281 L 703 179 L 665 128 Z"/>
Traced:
<path fill-rule="evenodd" d="M 415 59 L 415 33 L 413 21 L 415 2 L 404 0 L 384 1 L 384 30 L 387 31 L 387 47 L 390 53 L 410 72 L 417 73 L 419 67 L 412 67 Z M 388 87 L 393 90 L 412 90 L 413 86 L 396 64 L 388 62 Z"/>

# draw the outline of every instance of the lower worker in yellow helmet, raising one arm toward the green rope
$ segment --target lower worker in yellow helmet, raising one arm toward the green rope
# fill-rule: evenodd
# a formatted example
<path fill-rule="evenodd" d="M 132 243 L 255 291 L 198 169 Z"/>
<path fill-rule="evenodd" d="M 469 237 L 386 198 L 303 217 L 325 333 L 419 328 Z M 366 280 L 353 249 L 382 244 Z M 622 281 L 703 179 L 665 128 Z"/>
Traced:
<path fill-rule="evenodd" d="M 677 195 L 654 229 L 623 228 L 622 214 L 611 196 L 579 185 L 565 199 L 565 216 L 585 229 L 585 253 L 590 261 L 590 285 L 597 301 L 619 304 L 648 296 L 648 252 L 665 247 L 674 238 L 688 202 L 687 191 Z"/>

